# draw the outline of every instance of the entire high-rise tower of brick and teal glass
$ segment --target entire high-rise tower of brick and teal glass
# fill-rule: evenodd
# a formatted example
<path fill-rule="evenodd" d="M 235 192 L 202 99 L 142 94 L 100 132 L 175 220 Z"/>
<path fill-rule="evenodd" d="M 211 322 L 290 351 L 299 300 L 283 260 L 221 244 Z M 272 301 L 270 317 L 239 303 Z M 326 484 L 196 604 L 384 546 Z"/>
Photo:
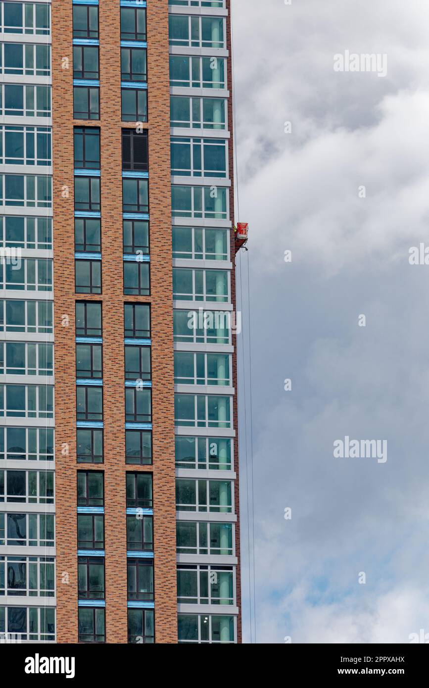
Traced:
<path fill-rule="evenodd" d="M 0 635 L 239 643 L 230 0 L 0 8 Z"/>

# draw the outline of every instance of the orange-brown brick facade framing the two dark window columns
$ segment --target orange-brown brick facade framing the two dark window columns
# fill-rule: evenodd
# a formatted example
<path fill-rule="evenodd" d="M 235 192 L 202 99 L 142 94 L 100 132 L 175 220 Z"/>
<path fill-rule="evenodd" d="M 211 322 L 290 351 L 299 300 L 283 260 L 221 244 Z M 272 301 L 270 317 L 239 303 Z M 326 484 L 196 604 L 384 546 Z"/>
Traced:
<path fill-rule="evenodd" d="M 127 642 L 125 473 L 151 471 L 155 642 L 177 642 L 168 0 L 148 2 L 151 297 L 124 297 L 120 4 L 102 0 L 100 121 L 73 120 L 72 2 L 52 1 L 57 638 L 78 641 L 76 471 L 104 471 L 106 640 Z M 101 129 L 102 295 L 74 292 L 74 125 Z M 102 301 L 104 464 L 76 464 L 75 301 Z M 151 303 L 153 466 L 126 466 L 124 302 Z M 67 316 L 66 319 L 64 316 Z M 68 325 L 67 325 L 68 318 Z M 68 448 L 68 449 L 67 449 Z"/>

